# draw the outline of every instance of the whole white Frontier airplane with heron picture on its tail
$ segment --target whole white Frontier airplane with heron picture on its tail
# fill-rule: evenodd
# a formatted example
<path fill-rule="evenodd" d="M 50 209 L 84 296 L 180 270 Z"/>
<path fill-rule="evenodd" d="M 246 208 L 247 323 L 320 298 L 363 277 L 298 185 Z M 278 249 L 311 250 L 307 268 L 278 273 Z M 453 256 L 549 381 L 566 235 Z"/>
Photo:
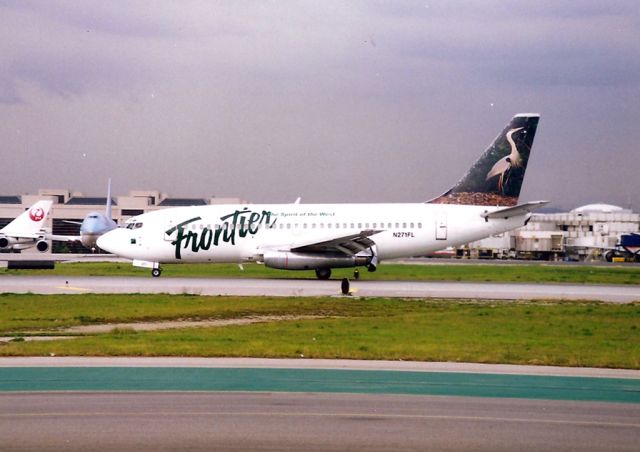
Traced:
<path fill-rule="evenodd" d="M 515 115 L 443 195 L 406 204 L 176 207 L 132 217 L 98 238 L 105 251 L 158 277 L 163 263 L 257 262 L 286 270 L 364 266 L 424 255 L 526 225 L 548 203 L 518 205 L 540 115 Z"/>

